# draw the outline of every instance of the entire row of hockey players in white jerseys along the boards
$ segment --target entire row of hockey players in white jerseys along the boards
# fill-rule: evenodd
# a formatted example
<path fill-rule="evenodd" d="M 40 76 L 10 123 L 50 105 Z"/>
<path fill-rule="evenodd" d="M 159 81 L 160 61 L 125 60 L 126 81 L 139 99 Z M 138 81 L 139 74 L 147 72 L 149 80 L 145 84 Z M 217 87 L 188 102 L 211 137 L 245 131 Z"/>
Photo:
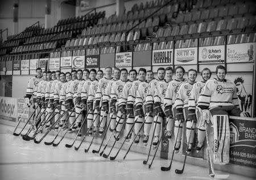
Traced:
<path fill-rule="evenodd" d="M 64 131 L 71 125 L 67 131 L 77 132 L 81 136 L 82 119 L 86 117 L 88 135 L 97 132 L 102 135 L 104 130 L 108 130 L 104 128 L 110 114 L 109 130 L 115 141 L 119 140 L 121 131 L 126 129 L 125 140 L 130 141 L 131 132 L 134 132 L 133 141 L 139 143 L 138 134 L 144 125 L 142 141 L 147 145 L 153 124 L 151 142 L 157 148 L 163 120 L 168 119 L 164 135 L 171 139 L 174 129 L 174 150 L 179 152 L 185 125 L 185 142 L 187 152 L 190 153 L 195 128 L 199 130 L 199 143 L 196 146 L 199 152 L 204 145 L 206 124 L 211 121 L 214 137 L 221 139 L 218 140 L 218 148 L 224 149 L 216 150 L 214 162 L 227 163 L 229 151 L 226 148 L 229 148 L 229 141 L 225 136 L 229 137 L 229 128 L 226 127 L 228 115 L 249 116 L 239 109 L 236 86 L 225 79 L 226 69 L 222 65 L 216 68 L 216 78 L 211 78 L 212 73 L 208 68 L 203 69 L 199 82 L 196 82 L 195 69 L 189 69 L 188 79 L 185 79 L 182 66 L 176 66 L 175 69 L 158 68 L 156 78 L 152 70 L 144 68 L 138 72 L 135 69 L 128 72 L 125 68 L 106 67 L 105 77 L 102 70 L 96 69 L 42 73 L 42 69 L 38 68 L 36 73 L 37 76 L 31 77 L 28 82 L 25 97 L 27 104 L 32 102 L 35 116 L 40 117 L 36 119 L 35 131 L 41 131 L 44 128 L 42 124 L 45 124 L 46 129 L 55 125 L 56 131 Z M 55 123 L 51 124 L 53 117 Z M 224 128 L 226 131 L 222 131 Z"/>

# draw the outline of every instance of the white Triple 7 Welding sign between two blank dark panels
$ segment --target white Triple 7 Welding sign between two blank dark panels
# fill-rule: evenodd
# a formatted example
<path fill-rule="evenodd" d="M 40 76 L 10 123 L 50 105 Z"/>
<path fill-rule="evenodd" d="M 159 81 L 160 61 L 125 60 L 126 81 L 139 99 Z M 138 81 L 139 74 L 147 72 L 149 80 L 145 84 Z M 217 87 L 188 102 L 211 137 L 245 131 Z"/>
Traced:
<path fill-rule="evenodd" d="M 133 60 L 132 52 L 121 52 L 115 54 L 115 66 L 116 67 L 128 67 L 131 66 Z"/>

